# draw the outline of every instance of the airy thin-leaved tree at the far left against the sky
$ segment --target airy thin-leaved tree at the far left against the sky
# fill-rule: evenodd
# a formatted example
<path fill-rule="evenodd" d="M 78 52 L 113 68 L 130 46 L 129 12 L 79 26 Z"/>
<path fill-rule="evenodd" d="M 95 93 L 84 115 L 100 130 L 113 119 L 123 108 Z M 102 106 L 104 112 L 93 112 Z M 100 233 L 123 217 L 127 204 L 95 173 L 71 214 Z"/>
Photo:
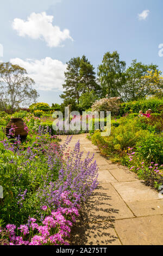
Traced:
<path fill-rule="evenodd" d="M 26 69 L 11 63 L 0 64 L 0 110 L 19 108 L 36 101 L 39 94 L 33 89 L 34 80 L 27 76 Z"/>

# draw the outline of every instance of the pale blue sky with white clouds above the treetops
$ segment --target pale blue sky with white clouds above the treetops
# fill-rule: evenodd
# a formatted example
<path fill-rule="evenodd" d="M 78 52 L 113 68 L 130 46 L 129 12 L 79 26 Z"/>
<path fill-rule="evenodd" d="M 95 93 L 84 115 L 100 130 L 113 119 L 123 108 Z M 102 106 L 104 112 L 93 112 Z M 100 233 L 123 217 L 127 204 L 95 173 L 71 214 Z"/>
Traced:
<path fill-rule="evenodd" d="M 0 9 L 0 59 L 24 66 L 39 101 L 50 105 L 61 102 L 72 57 L 85 54 L 97 69 L 105 52 L 117 51 L 127 66 L 137 59 L 163 71 L 162 8 L 161 0 L 6 0 Z"/>

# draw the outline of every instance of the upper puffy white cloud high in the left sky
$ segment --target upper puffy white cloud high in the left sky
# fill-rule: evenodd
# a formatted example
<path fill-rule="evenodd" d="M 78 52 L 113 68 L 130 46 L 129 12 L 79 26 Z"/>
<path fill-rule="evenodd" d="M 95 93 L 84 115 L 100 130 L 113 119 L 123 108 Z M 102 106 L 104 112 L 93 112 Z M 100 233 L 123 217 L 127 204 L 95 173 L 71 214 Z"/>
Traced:
<path fill-rule="evenodd" d="M 12 28 L 20 36 L 28 35 L 32 39 L 42 39 L 47 42 L 49 47 L 61 46 L 61 42 L 66 39 L 72 39 L 70 31 L 64 29 L 61 31 L 58 26 L 53 26 L 53 16 L 43 13 L 32 13 L 27 17 L 27 21 L 14 19 Z"/>

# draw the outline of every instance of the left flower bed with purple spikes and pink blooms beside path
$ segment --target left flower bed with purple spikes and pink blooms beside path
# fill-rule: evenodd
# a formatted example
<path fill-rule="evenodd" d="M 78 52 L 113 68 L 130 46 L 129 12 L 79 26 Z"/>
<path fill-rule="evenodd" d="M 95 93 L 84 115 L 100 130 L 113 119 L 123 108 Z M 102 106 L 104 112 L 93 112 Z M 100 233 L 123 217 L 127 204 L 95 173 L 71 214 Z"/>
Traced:
<path fill-rule="evenodd" d="M 59 145 L 48 128 L 28 129 L 24 142 L 1 132 L 0 244 L 68 245 L 80 203 L 98 185 L 97 164 L 82 160 L 79 142 L 70 151 L 71 137 Z"/>

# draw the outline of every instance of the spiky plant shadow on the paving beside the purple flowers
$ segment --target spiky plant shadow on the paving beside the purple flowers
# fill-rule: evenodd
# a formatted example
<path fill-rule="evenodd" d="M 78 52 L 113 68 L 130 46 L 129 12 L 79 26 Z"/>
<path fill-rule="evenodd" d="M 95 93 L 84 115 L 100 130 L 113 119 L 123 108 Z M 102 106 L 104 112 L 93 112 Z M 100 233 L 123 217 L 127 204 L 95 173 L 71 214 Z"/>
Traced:
<path fill-rule="evenodd" d="M 119 210 L 112 208 L 111 196 L 100 188 L 82 204 L 80 217 L 72 227 L 71 245 L 111 245 L 118 239 L 113 223 Z"/>

